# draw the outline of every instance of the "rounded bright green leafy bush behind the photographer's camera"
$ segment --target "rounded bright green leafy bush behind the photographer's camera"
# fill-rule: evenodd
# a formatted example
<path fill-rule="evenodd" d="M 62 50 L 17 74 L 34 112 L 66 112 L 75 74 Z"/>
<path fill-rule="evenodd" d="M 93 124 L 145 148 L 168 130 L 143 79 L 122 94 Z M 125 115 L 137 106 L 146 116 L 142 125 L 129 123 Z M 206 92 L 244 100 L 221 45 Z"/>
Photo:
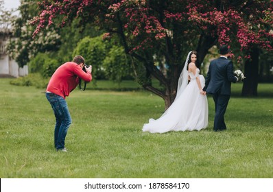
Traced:
<path fill-rule="evenodd" d="M 124 77 L 130 76 L 128 57 L 124 49 L 109 38 L 108 34 L 91 38 L 86 36 L 78 42 L 73 51 L 73 56 L 84 56 L 86 64 L 93 65 L 95 80 L 108 79 L 121 82 Z"/>

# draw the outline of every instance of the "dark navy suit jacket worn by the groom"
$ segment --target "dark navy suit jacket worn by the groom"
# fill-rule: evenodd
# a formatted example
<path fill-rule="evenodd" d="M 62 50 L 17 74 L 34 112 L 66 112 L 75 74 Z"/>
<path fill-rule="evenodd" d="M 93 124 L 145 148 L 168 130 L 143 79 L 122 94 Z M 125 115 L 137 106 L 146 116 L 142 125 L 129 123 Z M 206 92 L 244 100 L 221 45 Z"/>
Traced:
<path fill-rule="evenodd" d="M 233 72 L 233 62 L 220 57 L 211 61 L 203 90 L 211 94 L 230 95 L 231 82 L 237 82 Z"/>

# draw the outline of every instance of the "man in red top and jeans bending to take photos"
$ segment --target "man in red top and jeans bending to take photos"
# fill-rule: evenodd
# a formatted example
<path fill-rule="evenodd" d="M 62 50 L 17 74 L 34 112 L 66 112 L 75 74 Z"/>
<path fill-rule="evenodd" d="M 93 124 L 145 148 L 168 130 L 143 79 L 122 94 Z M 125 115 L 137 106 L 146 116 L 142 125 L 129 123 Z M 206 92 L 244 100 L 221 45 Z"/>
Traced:
<path fill-rule="evenodd" d="M 64 140 L 71 124 L 71 116 L 65 97 L 78 86 L 80 79 L 85 82 L 92 80 L 92 66 L 86 67 L 82 56 L 75 56 L 72 62 L 62 64 L 49 80 L 46 97 L 54 110 L 56 125 L 54 131 L 54 145 L 58 151 L 67 152 Z"/>

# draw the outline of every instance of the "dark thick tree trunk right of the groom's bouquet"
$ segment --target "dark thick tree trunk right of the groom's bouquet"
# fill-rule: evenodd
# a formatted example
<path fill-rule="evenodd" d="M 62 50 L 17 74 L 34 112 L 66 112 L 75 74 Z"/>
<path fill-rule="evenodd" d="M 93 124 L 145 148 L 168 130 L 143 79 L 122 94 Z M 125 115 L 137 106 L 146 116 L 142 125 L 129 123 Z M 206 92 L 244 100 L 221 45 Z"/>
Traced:
<path fill-rule="evenodd" d="M 259 80 L 259 49 L 253 48 L 250 51 L 251 60 L 245 63 L 245 76 L 242 96 L 257 96 L 258 80 Z"/>

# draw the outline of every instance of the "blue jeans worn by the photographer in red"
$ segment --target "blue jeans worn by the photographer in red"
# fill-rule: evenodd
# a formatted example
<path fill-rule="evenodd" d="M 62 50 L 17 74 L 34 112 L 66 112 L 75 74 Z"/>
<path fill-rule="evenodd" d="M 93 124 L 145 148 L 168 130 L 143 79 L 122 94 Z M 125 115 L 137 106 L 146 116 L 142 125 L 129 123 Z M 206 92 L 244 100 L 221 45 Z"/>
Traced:
<path fill-rule="evenodd" d="M 54 93 L 46 93 L 45 96 L 51 104 L 51 107 L 54 110 L 54 115 L 56 117 L 56 125 L 54 131 L 55 148 L 57 150 L 63 149 L 64 140 L 67 136 L 67 130 L 69 129 L 69 125 L 71 125 L 72 123 L 69 108 L 67 106 L 67 101 Z"/>

